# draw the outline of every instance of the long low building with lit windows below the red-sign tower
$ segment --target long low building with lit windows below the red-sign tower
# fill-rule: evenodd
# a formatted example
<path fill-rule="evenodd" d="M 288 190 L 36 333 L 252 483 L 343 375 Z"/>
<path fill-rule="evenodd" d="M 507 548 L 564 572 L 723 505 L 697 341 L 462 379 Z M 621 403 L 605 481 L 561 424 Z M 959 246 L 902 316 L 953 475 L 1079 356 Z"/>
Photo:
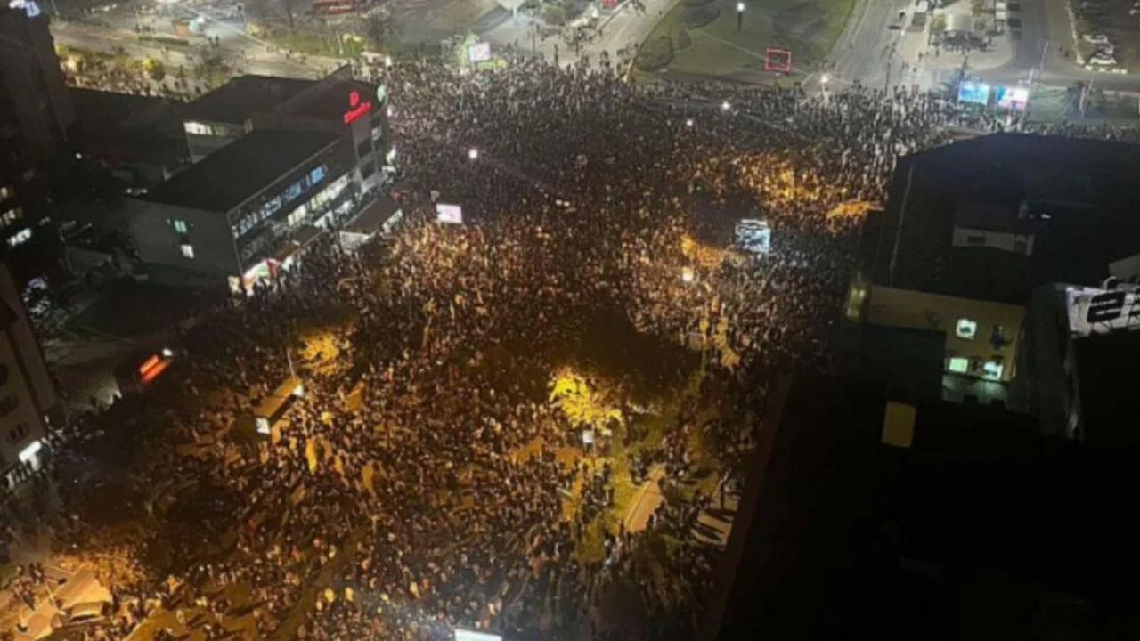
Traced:
<path fill-rule="evenodd" d="M 326 131 L 258 130 L 128 201 L 153 281 L 250 292 L 351 212 L 352 149 Z"/>

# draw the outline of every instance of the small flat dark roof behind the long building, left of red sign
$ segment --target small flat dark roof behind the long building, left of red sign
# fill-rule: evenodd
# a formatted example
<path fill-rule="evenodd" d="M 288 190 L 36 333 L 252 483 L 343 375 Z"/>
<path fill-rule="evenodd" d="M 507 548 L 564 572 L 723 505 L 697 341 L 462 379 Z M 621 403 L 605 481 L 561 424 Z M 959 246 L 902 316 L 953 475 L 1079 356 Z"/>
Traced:
<path fill-rule="evenodd" d="M 317 81 L 268 75 L 239 75 L 186 105 L 186 120 L 239 124 L 251 114 L 270 112 Z"/>

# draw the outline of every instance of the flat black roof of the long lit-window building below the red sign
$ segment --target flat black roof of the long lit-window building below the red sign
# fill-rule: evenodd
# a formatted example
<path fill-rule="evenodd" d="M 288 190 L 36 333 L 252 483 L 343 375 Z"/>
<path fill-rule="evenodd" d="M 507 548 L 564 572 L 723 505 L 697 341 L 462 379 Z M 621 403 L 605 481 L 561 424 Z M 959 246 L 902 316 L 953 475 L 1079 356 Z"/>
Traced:
<path fill-rule="evenodd" d="M 228 212 L 339 140 L 340 136 L 327 131 L 253 131 L 158 185 L 142 200 Z"/>

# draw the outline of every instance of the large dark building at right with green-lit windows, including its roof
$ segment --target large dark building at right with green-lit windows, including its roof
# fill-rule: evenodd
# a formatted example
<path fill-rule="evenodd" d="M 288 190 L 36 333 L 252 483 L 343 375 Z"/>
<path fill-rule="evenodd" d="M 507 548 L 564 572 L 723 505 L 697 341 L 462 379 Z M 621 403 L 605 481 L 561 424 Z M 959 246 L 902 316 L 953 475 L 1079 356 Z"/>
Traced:
<path fill-rule="evenodd" d="M 852 283 L 845 368 L 894 399 L 1002 405 L 1140 444 L 1140 155 L 993 135 L 899 160 Z M 1133 309 L 1137 311 L 1134 313 Z"/>

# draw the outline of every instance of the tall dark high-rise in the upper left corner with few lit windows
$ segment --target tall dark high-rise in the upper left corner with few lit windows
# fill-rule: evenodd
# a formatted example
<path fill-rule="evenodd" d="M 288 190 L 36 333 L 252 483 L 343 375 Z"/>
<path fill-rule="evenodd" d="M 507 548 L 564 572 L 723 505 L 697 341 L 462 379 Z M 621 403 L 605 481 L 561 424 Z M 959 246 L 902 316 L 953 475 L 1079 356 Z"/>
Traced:
<path fill-rule="evenodd" d="M 0 6 L 0 254 L 17 281 L 55 253 L 41 229 L 44 176 L 74 120 L 47 15 L 25 0 Z"/>

